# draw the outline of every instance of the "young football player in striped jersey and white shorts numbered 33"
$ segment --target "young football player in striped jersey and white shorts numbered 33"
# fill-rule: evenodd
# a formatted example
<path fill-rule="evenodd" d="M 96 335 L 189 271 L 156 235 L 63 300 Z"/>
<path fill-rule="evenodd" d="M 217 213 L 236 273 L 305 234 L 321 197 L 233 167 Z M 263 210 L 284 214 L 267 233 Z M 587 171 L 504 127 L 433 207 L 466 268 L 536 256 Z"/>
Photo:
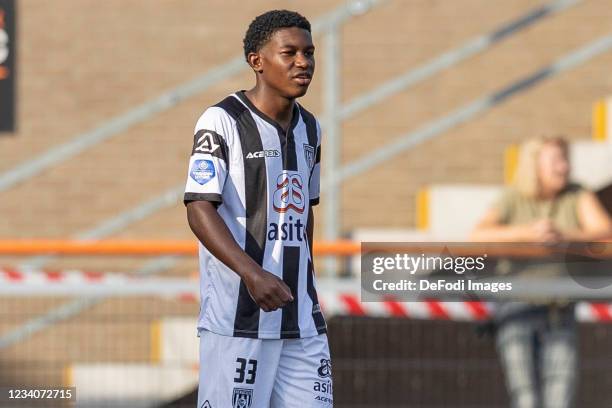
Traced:
<path fill-rule="evenodd" d="M 200 241 L 198 408 L 331 407 L 311 255 L 321 131 L 295 102 L 315 67 L 310 23 L 258 16 L 244 53 L 255 87 L 200 117 L 185 190 Z"/>

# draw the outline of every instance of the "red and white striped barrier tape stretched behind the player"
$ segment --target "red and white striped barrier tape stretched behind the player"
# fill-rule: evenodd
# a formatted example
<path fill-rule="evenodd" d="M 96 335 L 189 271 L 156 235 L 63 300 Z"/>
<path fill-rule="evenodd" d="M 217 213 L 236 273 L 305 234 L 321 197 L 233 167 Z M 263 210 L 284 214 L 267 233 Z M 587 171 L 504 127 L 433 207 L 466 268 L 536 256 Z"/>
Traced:
<path fill-rule="evenodd" d="M 321 290 L 321 286 L 325 289 Z M 0 269 L 0 295 L 5 296 L 144 296 L 198 301 L 196 279 L 152 278 L 80 270 L 35 271 Z M 361 302 L 359 286 L 325 282 L 319 301 L 326 315 L 404 317 L 413 319 L 482 321 L 491 318 L 494 302 L 423 300 Z M 576 317 L 583 322 L 612 322 L 612 304 L 579 302 Z"/>

